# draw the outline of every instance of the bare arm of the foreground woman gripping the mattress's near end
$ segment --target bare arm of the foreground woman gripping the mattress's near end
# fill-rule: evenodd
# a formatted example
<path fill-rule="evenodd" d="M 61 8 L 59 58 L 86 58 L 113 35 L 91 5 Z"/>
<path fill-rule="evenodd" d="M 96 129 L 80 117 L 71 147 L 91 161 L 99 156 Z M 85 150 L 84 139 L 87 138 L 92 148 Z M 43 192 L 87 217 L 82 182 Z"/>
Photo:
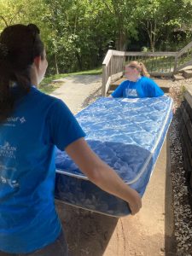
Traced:
<path fill-rule="evenodd" d="M 68 145 L 65 151 L 92 183 L 127 201 L 132 214 L 140 210 L 142 201 L 137 191 L 125 184 L 117 173 L 91 150 L 84 138 Z"/>

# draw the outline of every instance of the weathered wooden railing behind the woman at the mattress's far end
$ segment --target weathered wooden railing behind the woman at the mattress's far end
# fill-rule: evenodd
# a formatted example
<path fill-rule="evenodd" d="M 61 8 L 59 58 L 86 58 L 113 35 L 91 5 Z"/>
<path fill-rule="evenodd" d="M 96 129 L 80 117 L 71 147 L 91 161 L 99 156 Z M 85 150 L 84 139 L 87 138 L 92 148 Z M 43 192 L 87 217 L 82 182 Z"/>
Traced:
<path fill-rule="evenodd" d="M 109 49 L 102 62 L 102 96 L 106 96 L 113 81 L 124 75 L 125 64 L 143 62 L 150 75 L 172 77 L 183 67 L 192 65 L 192 42 L 179 52 L 125 52 Z"/>

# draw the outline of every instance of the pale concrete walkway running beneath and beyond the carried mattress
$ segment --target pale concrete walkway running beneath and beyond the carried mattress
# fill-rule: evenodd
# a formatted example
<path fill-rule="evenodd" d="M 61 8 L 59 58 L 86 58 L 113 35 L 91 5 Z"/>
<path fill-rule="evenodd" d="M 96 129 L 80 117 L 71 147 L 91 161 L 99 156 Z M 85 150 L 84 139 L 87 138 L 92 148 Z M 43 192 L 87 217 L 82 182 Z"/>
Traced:
<path fill-rule="evenodd" d="M 85 107 L 89 96 L 101 87 L 98 76 L 75 76 L 64 82 L 52 95 L 64 100 L 73 113 Z M 143 208 L 136 216 L 110 218 L 62 203 L 57 203 L 57 209 L 70 256 L 175 255 L 169 140 L 165 140 L 143 196 Z"/>

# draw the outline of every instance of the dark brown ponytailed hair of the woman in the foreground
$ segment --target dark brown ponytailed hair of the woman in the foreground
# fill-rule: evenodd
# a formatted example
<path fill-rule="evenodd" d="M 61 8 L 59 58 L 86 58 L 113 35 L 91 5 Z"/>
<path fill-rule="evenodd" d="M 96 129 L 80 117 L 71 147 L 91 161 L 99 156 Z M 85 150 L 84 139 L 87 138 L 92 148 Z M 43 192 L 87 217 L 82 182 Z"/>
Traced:
<path fill-rule="evenodd" d="M 13 86 L 22 94 L 31 88 L 30 69 L 36 56 L 44 57 L 38 27 L 21 24 L 6 27 L 0 35 L 0 123 L 13 113 Z"/>

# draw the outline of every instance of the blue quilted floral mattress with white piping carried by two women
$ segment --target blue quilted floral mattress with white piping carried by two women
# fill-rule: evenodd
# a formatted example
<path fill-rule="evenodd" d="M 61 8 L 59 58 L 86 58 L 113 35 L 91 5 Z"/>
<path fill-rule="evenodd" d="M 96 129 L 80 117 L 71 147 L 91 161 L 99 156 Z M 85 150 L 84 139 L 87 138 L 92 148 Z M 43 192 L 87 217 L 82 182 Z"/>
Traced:
<path fill-rule="evenodd" d="M 172 99 L 106 98 L 76 114 L 85 140 L 131 188 L 143 196 L 172 121 Z M 56 152 L 55 199 L 113 217 L 128 204 L 96 187 L 65 153 Z"/>

